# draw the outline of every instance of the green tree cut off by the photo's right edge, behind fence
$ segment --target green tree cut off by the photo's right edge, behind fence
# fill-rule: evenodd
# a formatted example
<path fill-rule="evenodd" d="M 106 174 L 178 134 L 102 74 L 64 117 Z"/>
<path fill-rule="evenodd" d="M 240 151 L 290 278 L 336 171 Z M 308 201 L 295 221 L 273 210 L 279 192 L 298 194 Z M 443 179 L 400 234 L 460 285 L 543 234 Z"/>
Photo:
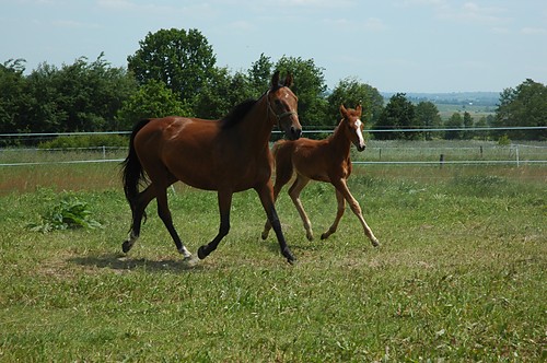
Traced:
<path fill-rule="evenodd" d="M 496 127 L 547 126 L 547 86 L 527 79 L 515 89 L 505 89 L 496 110 Z M 513 140 L 547 140 L 547 130 L 501 131 Z M 498 137 L 501 136 L 498 133 Z"/>

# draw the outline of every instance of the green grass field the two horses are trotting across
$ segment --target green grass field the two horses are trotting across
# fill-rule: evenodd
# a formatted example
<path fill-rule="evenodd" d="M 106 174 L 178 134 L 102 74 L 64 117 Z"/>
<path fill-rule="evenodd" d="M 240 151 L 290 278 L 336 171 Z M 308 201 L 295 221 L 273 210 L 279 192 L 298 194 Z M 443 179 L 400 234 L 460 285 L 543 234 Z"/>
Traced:
<path fill-rule="evenodd" d="M 0 168 L 0 361 L 336 362 L 547 360 L 547 168 L 354 168 L 350 189 L 381 241 L 347 211 L 307 242 L 281 195 L 295 266 L 280 256 L 254 192 L 234 197 L 219 249 L 185 264 L 149 208 L 129 226 L 112 163 Z M 171 207 L 195 251 L 218 230 L 214 194 L 177 185 Z M 27 229 L 62 198 L 102 229 Z M 330 186 L 302 195 L 318 236 Z"/>

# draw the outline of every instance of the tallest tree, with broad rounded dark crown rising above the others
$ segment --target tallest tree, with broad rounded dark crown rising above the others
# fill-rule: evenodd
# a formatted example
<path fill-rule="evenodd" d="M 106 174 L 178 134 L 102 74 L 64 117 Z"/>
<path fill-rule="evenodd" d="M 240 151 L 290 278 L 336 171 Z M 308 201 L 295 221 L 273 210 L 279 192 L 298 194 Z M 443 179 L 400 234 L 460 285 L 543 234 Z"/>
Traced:
<path fill-rule="evenodd" d="M 140 84 L 162 81 L 181 101 L 193 102 L 214 77 L 216 56 L 198 30 L 160 30 L 139 45 L 127 61 Z"/>

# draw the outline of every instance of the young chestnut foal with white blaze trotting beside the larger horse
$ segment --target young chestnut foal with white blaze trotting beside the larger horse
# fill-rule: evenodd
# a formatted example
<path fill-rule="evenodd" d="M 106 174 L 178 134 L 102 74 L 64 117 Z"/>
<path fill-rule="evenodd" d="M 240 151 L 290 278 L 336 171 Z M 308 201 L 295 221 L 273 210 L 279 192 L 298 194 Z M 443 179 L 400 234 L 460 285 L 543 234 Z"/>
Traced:
<path fill-rule="evenodd" d="M 364 221 L 359 202 L 353 198 L 347 185 L 347 179 L 351 174 L 351 161 L 349 157 L 351 143 L 353 143 L 359 151 L 363 151 L 365 148 L 362 133 L 363 124 L 360 120 L 361 105 L 358 105 L 356 109 L 346 109 L 346 107 L 341 105 L 340 113 L 342 116 L 340 124 L 335 132 L 325 140 L 301 138 L 295 141 L 281 140 L 274 145 L 274 155 L 276 160 L 274 199 L 277 200 L 281 188 L 289 183 L 293 175 L 293 171 L 295 171 L 296 178 L 289 189 L 289 195 L 304 222 L 306 237 L 312 241 L 312 224 L 300 201 L 300 192 L 310 180 L 330 183 L 336 188 L 338 211 L 333 225 L 327 232 L 322 234 L 321 238 L 328 238 L 328 236 L 336 232 L 338 223 L 344 215 L 346 201 L 348 201 L 351 210 L 359 218 L 364 234 L 372 242 L 373 246 L 379 246 L 379 241 Z M 271 224 L 266 222 L 263 239 L 266 239 L 270 229 Z"/>

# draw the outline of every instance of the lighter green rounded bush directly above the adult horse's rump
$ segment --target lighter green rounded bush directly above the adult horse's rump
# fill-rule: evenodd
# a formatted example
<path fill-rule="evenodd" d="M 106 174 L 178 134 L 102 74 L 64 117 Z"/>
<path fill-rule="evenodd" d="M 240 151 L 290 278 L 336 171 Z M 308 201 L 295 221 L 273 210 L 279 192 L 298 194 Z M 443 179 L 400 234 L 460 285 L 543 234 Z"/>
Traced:
<path fill-rule="evenodd" d="M 193 115 L 190 107 L 162 81 L 150 80 L 124 103 L 116 119 L 120 129 L 129 130 L 140 119 L 164 116 Z"/>

